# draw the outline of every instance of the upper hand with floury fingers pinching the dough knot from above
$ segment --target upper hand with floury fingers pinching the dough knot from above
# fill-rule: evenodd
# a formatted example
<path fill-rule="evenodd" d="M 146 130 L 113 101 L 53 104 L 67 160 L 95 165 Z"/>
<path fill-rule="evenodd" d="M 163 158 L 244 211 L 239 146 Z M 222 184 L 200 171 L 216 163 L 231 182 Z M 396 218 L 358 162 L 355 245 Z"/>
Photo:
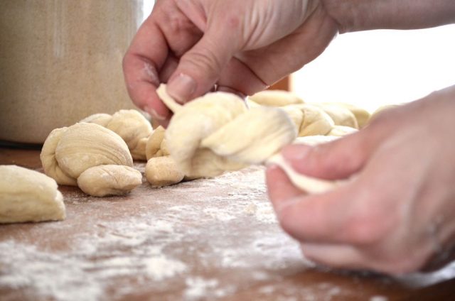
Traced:
<path fill-rule="evenodd" d="M 319 0 L 158 0 L 124 56 L 129 96 L 166 124 L 161 82 L 186 102 L 253 94 L 316 58 L 337 33 Z"/>

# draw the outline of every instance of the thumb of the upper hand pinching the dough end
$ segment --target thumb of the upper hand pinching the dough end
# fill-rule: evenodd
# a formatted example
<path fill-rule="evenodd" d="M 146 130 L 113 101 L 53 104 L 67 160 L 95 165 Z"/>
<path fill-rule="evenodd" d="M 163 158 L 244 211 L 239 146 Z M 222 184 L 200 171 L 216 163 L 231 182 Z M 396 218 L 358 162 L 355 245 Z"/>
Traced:
<path fill-rule="evenodd" d="M 223 26 L 217 21 L 216 26 L 209 27 L 198 43 L 181 57 L 171 75 L 167 92 L 177 102 L 188 102 L 208 92 L 237 52 L 237 26 L 219 28 L 218 24 Z"/>

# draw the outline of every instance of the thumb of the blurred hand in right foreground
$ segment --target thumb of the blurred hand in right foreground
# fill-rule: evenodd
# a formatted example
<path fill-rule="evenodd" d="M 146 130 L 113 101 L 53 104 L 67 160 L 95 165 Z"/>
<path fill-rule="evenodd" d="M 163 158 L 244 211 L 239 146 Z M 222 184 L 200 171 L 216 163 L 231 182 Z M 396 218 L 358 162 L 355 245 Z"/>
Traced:
<path fill-rule="evenodd" d="M 343 179 L 361 170 L 375 149 L 375 139 L 366 130 L 318 146 L 286 146 L 282 155 L 298 173 Z"/>

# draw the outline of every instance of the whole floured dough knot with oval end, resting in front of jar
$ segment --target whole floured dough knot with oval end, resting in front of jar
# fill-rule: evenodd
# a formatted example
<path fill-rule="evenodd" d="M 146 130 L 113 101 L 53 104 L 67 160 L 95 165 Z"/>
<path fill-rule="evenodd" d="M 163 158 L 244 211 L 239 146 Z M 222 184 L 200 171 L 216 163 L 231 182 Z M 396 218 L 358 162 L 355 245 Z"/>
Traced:
<path fill-rule="evenodd" d="M 46 138 L 40 157 L 46 175 L 61 185 L 82 183 L 82 190 L 90 195 L 106 195 L 106 192 L 118 195 L 119 190 L 126 193 L 141 184 L 137 173 L 130 175 L 132 171 L 123 167 L 114 168 L 110 179 L 95 179 L 95 176 L 105 177 L 109 173 L 107 169 L 92 170 L 78 180 L 82 173 L 100 165 L 133 166 L 127 144 L 117 133 L 98 124 L 56 128 Z M 120 175 L 122 172 L 124 175 Z"/>

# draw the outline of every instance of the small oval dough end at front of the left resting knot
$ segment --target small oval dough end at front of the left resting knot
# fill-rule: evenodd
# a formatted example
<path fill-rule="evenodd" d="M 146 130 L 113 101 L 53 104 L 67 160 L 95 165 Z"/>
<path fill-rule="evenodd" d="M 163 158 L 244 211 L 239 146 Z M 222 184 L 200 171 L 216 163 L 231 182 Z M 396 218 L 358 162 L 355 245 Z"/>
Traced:
<path fill-rule="evenodd" d="M 142 174 L 124 165 L 97 165 L 77 177 L 77 185 L 87 195 L 126 195 L 142 184 Z"/>

